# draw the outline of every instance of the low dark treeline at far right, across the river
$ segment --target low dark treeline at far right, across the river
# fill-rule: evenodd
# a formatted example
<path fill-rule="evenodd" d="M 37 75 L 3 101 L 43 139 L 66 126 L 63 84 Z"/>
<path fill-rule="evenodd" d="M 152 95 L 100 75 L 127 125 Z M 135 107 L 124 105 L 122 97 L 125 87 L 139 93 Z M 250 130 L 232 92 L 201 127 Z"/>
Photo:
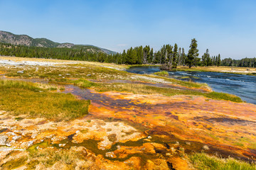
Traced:
<path fill-rule="evenodd" d="M 229 67 L 255 67 L 256 68 L 256 58 L 244 58 L 241 60 L 233 60 L 231 58 L 225 58 L 221 61 L 222 66 Z"/>

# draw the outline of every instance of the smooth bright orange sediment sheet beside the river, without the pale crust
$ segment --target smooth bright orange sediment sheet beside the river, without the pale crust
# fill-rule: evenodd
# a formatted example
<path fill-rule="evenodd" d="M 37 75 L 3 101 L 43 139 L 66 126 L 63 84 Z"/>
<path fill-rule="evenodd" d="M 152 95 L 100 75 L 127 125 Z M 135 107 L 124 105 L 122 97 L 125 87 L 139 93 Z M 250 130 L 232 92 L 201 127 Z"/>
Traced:
<path fill-rule="evenodd" d="M 134 105 L 112 108 L 92 101 L 92 115 L 129 120 L 146 127 L 149 135 L 200 142 L 220 154 L 223 149 L 223 154 L 256 157 L 253 152 L 256 149 L 256 106 L 253 104 L 206 100 L 202 96 L 105 94 L 117 102 L 122 99 Z"/>

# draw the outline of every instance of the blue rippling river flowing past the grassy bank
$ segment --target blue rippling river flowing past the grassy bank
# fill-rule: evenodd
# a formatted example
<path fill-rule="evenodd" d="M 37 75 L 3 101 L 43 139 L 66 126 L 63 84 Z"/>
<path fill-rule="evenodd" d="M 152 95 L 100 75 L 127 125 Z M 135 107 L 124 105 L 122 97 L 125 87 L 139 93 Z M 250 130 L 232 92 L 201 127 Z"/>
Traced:
<path fill-rule="evenodd" d="M 127 72 L 137 74 L 153 74 L 160 72 L 159 67 L 131 67 Z M 208 84 L 213 91 L 235 94 L 247 103 L 256 104 L 256 77 L 242 74 L 220 72 L 170 72 L 174 79 L 192 80 Z"/>

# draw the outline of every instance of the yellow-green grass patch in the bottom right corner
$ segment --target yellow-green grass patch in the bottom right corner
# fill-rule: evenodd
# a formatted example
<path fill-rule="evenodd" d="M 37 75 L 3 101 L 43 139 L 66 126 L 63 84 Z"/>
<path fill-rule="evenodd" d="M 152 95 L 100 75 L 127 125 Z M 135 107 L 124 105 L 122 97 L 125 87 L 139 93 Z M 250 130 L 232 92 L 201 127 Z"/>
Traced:
<path fill-rule="evenodd" d="M 255 164 L 241 162 L 233 158 L 220 159 L 205 153 L 195 153 L 188 156 L 195 169 L 199 170 L 256 170 Z"/>

